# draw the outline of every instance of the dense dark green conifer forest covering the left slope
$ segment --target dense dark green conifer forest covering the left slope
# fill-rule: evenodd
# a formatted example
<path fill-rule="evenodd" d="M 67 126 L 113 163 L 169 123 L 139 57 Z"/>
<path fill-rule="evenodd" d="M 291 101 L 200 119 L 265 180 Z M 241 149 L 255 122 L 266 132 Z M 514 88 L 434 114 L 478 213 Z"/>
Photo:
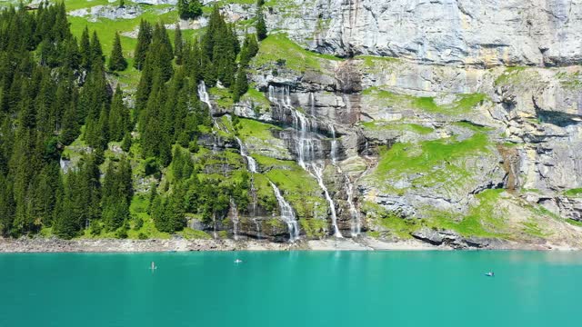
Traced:
<path fill-rule="evenodd" d="M 146 174 L 172 170 L 169 187 L 152 188 L 150 213 L 158 230 L 180 230 L 186 213 L 215 219 L 231 199 L 246 207 L 248 176 L 234 184 L 200 181 L 191 154 L 198 151 L 201 128 L 212 125 L 209 108 L 197 97 L 198 84 L 222 84 L 238 101 L 257 51 L 255 35 L 246 35 L 241 47 L 217 5 L 206 34 L 193 41 L 183 40 L 176 28 L 172 45 L 164 25 L 142 21 L 134 54 L 141 76 L 130 109 L 120 85 L 107 78 L 107 72 L 127 66 L 118 34 L 105 58 L 95 32 L 85 28 L 78 40 L 71 34 L 63 4 L 41 4 L 35 12 L 2 10 L 0 233 L 52 227 L 63 238 L 86 229 L 124 237 L 134 194 L 128 155 L 135 142 Z M 65 146 L 75 140 L 85 154 L 72 167 L 61 167 L 70 155 Z M 124 154 L 107 159 L 112 142 Z"/>

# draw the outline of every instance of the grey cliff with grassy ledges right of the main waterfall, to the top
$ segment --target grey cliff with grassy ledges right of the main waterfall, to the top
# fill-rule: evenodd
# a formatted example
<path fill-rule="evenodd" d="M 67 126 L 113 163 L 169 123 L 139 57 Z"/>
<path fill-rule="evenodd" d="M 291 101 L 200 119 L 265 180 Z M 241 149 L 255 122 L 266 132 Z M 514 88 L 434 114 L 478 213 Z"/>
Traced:
<path fill-rule="evenodd" d="M 384 238 L 577 243 L 581 14 L 575 0 L 267 2 L 252 79 L 269 105 L 222 114 L 279 126 L 279 156 L 298 163 L 305 115 L 344 235 L 361 218 Z"/>

